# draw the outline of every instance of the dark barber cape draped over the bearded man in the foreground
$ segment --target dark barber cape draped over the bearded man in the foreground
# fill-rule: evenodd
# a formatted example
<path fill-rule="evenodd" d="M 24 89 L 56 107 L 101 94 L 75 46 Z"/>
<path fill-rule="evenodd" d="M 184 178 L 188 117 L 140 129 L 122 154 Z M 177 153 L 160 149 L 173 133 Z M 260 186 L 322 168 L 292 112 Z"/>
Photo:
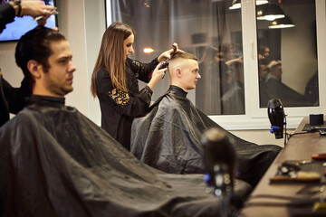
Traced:
<path fill-rule="evenodd" d="M 64 99 L 31 101 L 0 128 L 0 216 L 218 216 L 203 175 L 143 164 Z"/>

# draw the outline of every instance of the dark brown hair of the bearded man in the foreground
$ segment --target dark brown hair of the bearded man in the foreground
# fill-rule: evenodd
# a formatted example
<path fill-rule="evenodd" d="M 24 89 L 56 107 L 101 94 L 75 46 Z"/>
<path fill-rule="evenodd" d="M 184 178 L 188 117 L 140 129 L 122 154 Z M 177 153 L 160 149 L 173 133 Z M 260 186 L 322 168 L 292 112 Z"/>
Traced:
<path fill-rule="evenodd" d="M 43 70 L 47 72 L 50 68 L 48 59 L 53 54 L 50 43 L 62 40 L 66 39 L 61 33 L 42 25 L 36 26 L 21 37 L 15 48 L 14 57 L 16 64 L 30 81 L 30 85 L 34 83 L 34 80 L 27 69 L 27 62 L 31 60 L 37 61 L 43 66 Z"/>

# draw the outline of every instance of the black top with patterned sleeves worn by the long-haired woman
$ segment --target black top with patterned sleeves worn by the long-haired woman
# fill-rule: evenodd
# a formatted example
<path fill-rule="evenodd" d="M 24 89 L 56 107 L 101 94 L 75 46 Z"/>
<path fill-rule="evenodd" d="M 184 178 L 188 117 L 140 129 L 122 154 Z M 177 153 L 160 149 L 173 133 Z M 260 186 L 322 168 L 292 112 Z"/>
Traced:
<path fill-rule="evenodd" d="M 158 59 L 141 63 L 127 58 L 126 80 L 129 92 L 113 88 L 110 74 L 105 69 L 96 75 L 96 93 L 101 106 L 101 127 L 122 146 L 130 149 L 132 120 L 145 115 L 149 108 L 152 90 L 149 86 L 139 91 L 138 80 L 149 82 Z"/>

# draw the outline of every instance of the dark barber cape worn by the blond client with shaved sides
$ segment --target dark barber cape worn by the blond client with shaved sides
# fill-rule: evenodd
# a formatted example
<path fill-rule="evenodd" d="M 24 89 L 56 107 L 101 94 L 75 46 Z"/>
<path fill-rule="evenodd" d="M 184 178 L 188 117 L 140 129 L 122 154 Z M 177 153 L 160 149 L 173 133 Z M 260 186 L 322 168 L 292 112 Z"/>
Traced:
<path fill-rule="evenodd" d="M 200 139 L 209 127 L 222 128 L 187 99 L 187 92 L 170 86 L 150 108 L 136 118 L 131 130 L 131 153 L 144 163 L 172 174 L 204 173 Z M 280 146 L 258 146 L 235 138 L 239 179 L 255 186 L 281 151 Z"/>

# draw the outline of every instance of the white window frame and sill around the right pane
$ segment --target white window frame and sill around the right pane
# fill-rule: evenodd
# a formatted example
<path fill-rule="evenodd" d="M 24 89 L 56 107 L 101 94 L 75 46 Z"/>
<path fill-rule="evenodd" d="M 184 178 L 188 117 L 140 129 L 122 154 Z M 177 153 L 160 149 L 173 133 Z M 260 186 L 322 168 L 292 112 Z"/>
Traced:
<path fill-rule="evenodd" d="M 303 117 L 309 114 L 325 114 L 326 90 L 326 4 L 316 0 L 317 57 L 320 91 L 319 107 L 284 108 L 288 128 L 295 128 Z M 242 7 L 243 50 L 245 71 L 245 115 L 209 116 L 216 123 L 229 130 L 266 129 L 271 124 L 267 109 L 259 108 L 259 82 L 257 66 L 257 30 L 255 0 L 243 0 Z"/>

